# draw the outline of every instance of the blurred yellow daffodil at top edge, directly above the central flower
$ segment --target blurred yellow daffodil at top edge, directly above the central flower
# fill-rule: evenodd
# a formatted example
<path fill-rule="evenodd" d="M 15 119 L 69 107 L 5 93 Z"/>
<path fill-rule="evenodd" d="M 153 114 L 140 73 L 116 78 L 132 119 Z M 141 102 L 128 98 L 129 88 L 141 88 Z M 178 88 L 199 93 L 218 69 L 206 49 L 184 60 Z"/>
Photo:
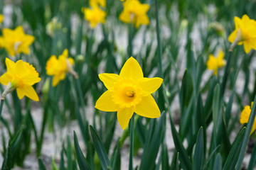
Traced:
<path fill-rule="evenodd" d="M 141 4 L 139 0 L 124 1 L 124 11 L 119 16 L 119 20 L 124 23 L 133 23 L 136 28 L 140 25 L 149 25 L 149 17 L 146 12 L 149 11 L 149 4 Z"/>

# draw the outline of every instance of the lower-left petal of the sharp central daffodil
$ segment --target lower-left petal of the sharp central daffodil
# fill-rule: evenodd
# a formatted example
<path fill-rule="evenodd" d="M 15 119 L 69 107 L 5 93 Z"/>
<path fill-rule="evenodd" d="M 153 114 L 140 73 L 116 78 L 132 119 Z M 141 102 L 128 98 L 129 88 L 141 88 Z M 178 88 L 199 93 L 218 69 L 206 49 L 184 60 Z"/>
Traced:
<path fill-rule="evenodd" d="M 111 92 L 108 90 L 96 101 L 95 108 L 100 111 L 114 112 L 117 111 L 118 106 L 112 101 Z"/>

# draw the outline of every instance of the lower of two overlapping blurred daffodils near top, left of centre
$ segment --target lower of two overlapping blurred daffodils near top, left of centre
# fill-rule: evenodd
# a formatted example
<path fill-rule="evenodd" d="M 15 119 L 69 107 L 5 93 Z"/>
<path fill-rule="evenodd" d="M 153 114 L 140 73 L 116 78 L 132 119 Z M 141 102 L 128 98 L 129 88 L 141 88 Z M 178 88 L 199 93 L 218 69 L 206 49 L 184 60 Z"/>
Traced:
<path fill-rule="evenodd" d="M 82 8 L 82 13 L 85 15 L 85 20 L 89 21 L 91 28 L 95 28 L 98 23 L 105 23 L 106 13 L 98 6 Z"/>

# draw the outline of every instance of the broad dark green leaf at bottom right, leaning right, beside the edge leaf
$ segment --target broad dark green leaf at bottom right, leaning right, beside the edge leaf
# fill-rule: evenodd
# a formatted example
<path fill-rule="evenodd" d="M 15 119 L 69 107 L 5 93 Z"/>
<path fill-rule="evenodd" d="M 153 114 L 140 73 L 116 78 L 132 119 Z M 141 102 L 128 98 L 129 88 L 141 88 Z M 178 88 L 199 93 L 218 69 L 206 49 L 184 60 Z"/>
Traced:
<path fill-rule="evenodd" d="M 233 145 L 230 149 L 230 153 L 228 154 L 228 158 L 225 161 L 223 166 L 223 170 L 233 170 L 235 169 L 235 165 L 238 163 L 238 156 L 240 154 L 240 149 L 242 147 L 242 140 L 245 137 L 246 128 L 242 128 L 240 130 L 238 136 L 235 138 Z"/>

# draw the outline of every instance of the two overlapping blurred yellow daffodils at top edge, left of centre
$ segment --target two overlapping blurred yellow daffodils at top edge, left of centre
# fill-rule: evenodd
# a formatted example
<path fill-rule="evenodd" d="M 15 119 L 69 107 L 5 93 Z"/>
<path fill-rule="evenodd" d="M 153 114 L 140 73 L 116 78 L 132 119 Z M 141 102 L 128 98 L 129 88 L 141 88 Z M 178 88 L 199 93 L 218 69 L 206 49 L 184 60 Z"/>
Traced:
<path fill-rule="evenodd" d="M 91 8 L 81 9 L 82 13 L 85 15 L 85 20 L 89 21 L 91 28 L 95 28 L 98 23 L 105 23 L 106 13 L 100 7 L 106 6 L 105 0 L 90 0 L 89 2 Z"/>

